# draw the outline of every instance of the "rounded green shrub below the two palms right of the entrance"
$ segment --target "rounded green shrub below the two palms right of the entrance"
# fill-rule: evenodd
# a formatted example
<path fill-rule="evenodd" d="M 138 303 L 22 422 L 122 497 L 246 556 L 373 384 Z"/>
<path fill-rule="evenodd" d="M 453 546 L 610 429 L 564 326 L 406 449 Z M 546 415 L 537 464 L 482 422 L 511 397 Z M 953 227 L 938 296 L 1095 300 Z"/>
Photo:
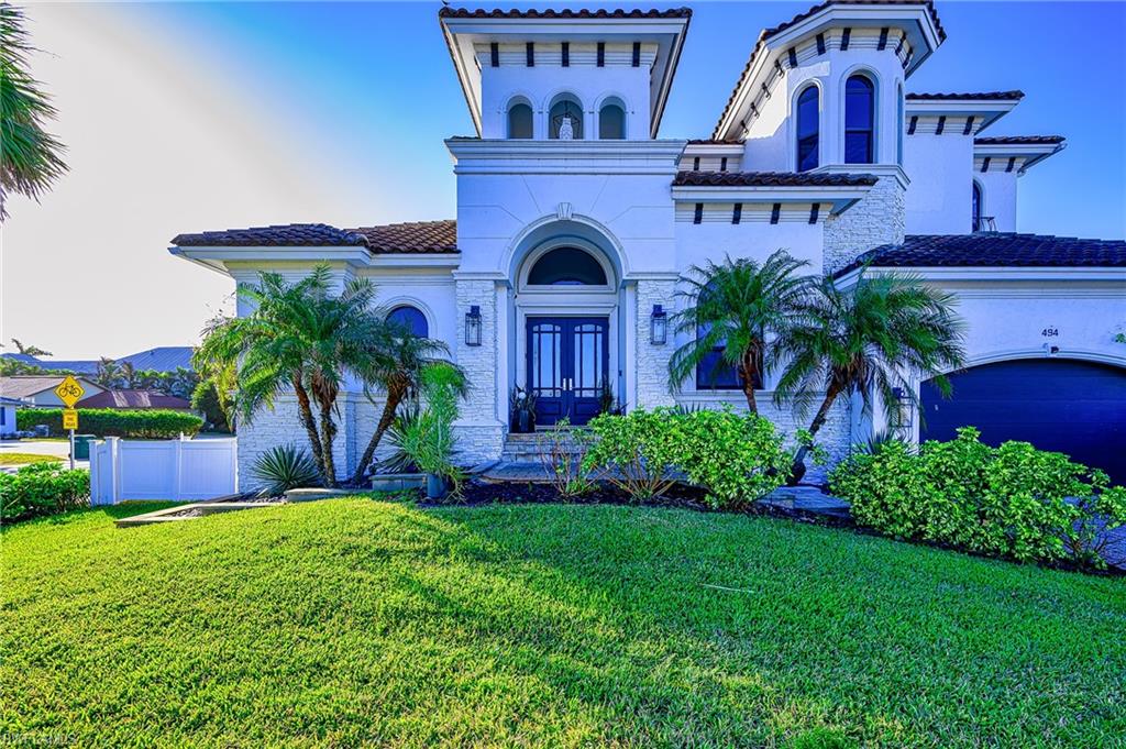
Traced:
<path fill-rule="evenodd" d="M 741 509 L 786 483 L 792 457 L 772 423 L 731 408 L 680 416 L 673 465 L 714 509 Z"/>

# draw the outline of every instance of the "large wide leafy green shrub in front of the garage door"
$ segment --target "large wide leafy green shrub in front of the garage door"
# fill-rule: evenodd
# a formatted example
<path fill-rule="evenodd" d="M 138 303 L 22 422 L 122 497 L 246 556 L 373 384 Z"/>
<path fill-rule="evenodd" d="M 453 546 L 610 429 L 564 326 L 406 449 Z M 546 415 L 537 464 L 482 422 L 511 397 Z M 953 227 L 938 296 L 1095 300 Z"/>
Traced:
<path fill-rule="evenodd" d="M 1102 567 L 1103 528 L 1126 524 L 1126 489 L 1061 453 L 981 443 L 972 427 L 918 453 L 888 442 L 830 475 L 857 523 L 902 538 L 1021 562 Z"/>

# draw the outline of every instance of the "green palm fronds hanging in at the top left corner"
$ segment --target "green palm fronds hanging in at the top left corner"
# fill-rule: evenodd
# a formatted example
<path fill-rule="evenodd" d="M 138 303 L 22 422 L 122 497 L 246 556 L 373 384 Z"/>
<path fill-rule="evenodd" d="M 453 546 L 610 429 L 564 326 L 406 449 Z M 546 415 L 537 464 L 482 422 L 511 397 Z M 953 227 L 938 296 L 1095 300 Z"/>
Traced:
<path fill-rule="evenodd" d="M 0 2 L 0 221 L 9 190 L 38 199 L 66 171 L 63 144 L 43 130 L 56 113 L 28 71 L 32 52 L 23 9 Z"/>

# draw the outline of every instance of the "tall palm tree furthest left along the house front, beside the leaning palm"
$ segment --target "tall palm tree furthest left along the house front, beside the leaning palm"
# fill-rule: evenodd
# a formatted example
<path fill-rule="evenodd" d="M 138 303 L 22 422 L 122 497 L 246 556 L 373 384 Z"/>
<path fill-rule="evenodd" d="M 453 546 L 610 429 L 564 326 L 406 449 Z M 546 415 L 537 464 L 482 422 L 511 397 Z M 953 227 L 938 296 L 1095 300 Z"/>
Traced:
<path fill-rule="evenodd" d="M 372 341 L 385 336 L 385 326 L 368 279 L 349 282 L 339 296 L 330 293 L 330 282 L 327 265 L 293 284 L 278 274 L 259 274 L 257 287 L 240 289 L 253 312 L 215 321 L 197 356 L 236 367 L 235 405 L 247 422 L 292 389 L 324 484 L 336 487 L 337 396 L 348 372 L 375 367 Z"/>

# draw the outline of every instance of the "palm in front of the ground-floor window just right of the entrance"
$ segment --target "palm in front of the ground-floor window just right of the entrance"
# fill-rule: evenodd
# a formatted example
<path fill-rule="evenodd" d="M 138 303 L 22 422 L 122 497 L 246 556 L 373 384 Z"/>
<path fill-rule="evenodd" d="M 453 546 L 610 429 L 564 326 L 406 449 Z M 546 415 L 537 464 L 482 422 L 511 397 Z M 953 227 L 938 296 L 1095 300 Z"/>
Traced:
<path fill-rule="evenodd" d="M 729 257 L 720 265 L 692 266 L 688 288 L 678 293 L 687 306 L 672 318 L 673 330 L 690 339 L 669 360 L 672 386 L 679 387 L 722 351 L 720 362 L 735 367 L 747 407 L 758 413 L 754 384 L 771 364 L 767 333 L 785 330 L 801 306 L 811 279 L 797 271 L 806 265 L 778 250 L 761 265 Z"/>

